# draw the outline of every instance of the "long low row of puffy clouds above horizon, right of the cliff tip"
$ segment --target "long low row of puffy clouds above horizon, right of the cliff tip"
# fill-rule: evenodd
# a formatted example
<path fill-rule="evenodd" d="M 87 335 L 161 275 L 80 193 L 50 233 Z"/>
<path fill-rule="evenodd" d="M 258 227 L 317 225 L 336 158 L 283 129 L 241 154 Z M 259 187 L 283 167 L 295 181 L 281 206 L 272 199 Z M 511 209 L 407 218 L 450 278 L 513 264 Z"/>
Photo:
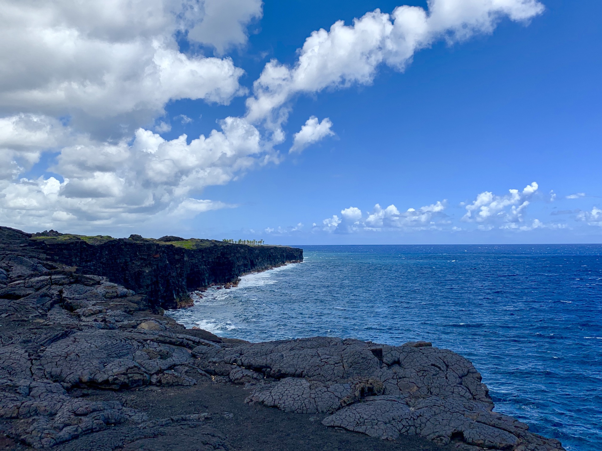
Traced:
<path fill-rule="evenodd" d="M 379 204 L 374 206 L 372 212 L 365 215 L 357 207 L 341 210 L 341 216 L 333 215 L 326 218 L 322 225 L 314 224 L 314 230 L 323 230 L 334 233 L 353 233 L 360 231 L 382 230 L 426 230 L 436 229 L 439 224 L 447 223 L 447 215 L 443 213 L 447 200 L 437 201 L 434 204 L 409 208 L 400 212 L 393 204 L 383 209 Z"/>

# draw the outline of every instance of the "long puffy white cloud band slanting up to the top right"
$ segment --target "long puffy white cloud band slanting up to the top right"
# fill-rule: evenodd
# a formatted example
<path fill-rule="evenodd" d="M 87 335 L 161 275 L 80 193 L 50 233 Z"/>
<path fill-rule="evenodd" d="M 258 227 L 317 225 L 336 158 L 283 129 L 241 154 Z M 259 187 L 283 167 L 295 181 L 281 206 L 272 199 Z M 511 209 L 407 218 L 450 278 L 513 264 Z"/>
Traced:
<path fill-rule="evenodd" d="M 525 21 L 542 13 L 536 0 L 431 0 L 429 10 L 401 6 L 393 13 L 366 13 L 344 25 L 338 20 L 329 31 L 314 31 L 299 51 L 293 67 L 276 60 L 265 65 L 247 99 L 247 118 L 266 120 L 279 137 L 288 111 L 282 106 L 297 93 L 370 84 L 380 64 L 403 70 L 412 55 L 445 38 L 461 41 L 489 33 L 504 16 Z"/>

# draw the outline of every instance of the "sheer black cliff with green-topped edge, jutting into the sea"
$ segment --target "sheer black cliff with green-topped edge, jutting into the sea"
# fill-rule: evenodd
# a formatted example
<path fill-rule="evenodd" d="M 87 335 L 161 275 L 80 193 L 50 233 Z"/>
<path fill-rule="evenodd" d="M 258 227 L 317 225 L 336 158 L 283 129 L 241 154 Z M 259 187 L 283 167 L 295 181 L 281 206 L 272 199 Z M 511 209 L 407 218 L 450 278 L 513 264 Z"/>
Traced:
<path fill-rule="evenodd" d="M 0 227 L 0 241 L 42 253 L 47 260 L 76 266 L 79 274 L 95 274 L 146 295 L 149 307 L 178 308 L 188 293 L 213 284 L 232 283 L 241 275 L 303 260 L 303 250 L 284 246 L 250 246 L 220 241 L 132 235 L 63 235 L 54 231 L 29 235 Z"/>

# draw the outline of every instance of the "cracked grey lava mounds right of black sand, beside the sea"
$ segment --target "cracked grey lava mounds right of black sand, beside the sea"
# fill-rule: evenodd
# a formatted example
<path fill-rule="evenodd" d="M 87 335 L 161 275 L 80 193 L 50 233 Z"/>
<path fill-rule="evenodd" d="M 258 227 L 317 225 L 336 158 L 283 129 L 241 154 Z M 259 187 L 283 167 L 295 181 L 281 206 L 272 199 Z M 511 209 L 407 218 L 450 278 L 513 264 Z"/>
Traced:
<path fill-rule="evenodd" d="M 262 375 L 247 402 L 299 413 L 332 413 L 326 426 L 396 439 L 421 435 L 466 449 L 553 450 L 556 440 L 492 411 L 470 361 L 430 343 L 377 345 L 326 337 L 194 348 L 199 366 L 235 382 Z"/>

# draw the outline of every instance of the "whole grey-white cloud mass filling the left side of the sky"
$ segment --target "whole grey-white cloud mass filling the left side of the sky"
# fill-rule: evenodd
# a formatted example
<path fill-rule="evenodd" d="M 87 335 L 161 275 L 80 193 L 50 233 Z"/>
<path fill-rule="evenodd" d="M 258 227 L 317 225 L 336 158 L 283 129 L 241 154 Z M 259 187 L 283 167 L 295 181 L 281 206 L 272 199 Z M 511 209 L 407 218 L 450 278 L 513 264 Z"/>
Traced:
<path fill-rule="evenodd" d="M 230 58 L 184 54 L 176 35 L 192 31 L 189 41 L 220 52 L 244 44 L 261 1 L 0 0 L 0 8 L 4 224 L 131 224 L 230 207 L 194 197 L 275 160 L 242 118 L 190 144 L 186 135 L 166 141 L 140 128 L 163 117 L 170 100 L 228 104 L 246 93 Z M 170 129 L 167 120 L 154 126 Z M 23 178 L 44 152 L 57 154 L 46 170 L 60 176 Z"/>

